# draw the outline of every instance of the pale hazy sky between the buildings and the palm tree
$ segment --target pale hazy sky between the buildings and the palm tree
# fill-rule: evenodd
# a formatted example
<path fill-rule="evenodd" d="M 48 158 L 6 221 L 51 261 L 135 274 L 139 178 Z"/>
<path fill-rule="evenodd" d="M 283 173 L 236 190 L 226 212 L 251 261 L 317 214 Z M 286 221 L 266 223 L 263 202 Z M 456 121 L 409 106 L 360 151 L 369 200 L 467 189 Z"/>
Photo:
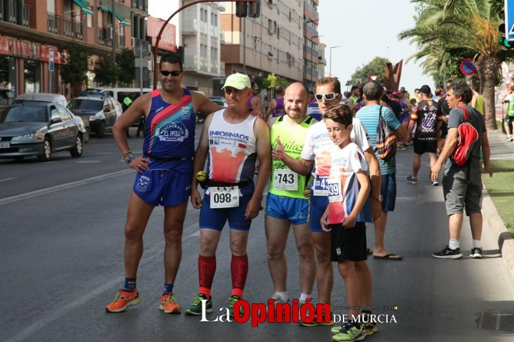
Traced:
<path fill-rule="evenodd" d="M 399 32 L 414 27 L 410 0 L 320 0 L 318 11 L 320 40 L 327 46 L 326 72 L 329 47 L 342 45 L 332 49 L 332 74 L 342 85 L 358 67 L 382 56 L 393 64 L 403 59 L 400 86 L 411 92 L 423 84 L 434 89 L 432 78 L 422 74 L 419 62 L 405 63 L 416 52 L 416 45 L 398 40 Z"/>

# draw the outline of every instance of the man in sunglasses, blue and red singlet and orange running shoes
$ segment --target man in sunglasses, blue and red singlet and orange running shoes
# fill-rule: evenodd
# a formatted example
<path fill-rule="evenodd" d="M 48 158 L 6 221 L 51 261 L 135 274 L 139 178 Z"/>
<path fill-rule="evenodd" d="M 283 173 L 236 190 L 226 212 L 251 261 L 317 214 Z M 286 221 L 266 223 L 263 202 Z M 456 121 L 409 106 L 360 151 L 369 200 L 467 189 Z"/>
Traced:
<path fill-rule="evenodd" d="M 141 302 L 136 274 L 143 253 L 143 232 L 155 206 L 164 207 L 164 289 L 159 309 L 178 314 L 173 284 L 182 257 L 182 229 L 191 192 L 196 112 L 212 113 L 222 107 L 203 94 L 181 88 L 183 68 L 177 53 L 159 63 L 162 88 L 140 96 L 113 127 L 122 160 L 137 171 L 128 200 L 125 223 L 125 283 L 107 312 L 122 312 Z M 143 156 L 135 157 L 124 131 L 141 116 L 146 118 Z"/>

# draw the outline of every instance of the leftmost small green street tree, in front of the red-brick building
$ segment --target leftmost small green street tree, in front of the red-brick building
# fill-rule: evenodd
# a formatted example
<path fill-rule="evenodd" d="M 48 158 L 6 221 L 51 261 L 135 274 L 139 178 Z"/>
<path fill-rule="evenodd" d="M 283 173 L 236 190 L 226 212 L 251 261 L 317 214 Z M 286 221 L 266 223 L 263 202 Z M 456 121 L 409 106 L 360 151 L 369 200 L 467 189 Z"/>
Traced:
<path fill-rule="evenodd" d="M 59 50 L 64 51 L 64 48 Z M 72 42 L 66 46 L 68 55 L 64 55 L 61 63 L 61 78 L 64 83 L 69 83 L 72 87 L 79 87 L 87 78 L 87 50 L 85 47 Z"/>

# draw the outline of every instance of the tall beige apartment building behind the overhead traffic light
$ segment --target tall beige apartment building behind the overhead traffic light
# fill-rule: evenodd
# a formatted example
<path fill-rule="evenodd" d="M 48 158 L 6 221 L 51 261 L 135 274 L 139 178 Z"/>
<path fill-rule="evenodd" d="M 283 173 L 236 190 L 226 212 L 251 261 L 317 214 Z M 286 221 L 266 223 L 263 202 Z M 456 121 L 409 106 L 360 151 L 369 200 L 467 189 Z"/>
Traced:
<path fill-rule="evenodd" d="M 242 72 L 264 78 L 275 73 L 289 82 L 302 82 L 303 7 L 304 0 L 263 0 L 259 18 L 239 18 L 235 4 L 227 3 L 221 18 L 225 74 Z"/>

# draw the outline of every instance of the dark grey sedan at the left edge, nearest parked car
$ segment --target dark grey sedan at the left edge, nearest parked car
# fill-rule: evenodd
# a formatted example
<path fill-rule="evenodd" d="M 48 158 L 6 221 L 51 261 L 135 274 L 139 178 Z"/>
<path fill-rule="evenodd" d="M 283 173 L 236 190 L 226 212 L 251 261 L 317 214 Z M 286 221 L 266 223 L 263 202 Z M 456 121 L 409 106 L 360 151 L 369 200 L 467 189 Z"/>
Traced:
<path fill-rule="evenodd" d="M 37 156 L 48 161 L 55 152 L 82 156 L 86 130 L 82 119 L 55 103 L 16 104 L 0 108 L 0 158 Z"/>

